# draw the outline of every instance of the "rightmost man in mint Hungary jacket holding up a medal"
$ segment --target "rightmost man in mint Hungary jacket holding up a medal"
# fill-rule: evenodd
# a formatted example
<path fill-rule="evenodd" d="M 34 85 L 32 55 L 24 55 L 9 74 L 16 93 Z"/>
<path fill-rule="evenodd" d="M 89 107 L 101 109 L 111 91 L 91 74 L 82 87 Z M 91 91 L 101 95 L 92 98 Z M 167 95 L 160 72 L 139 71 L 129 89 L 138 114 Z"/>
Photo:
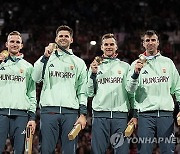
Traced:
<path fill-rule="evenodd" d="M 172 95 L 180 101 L 179 73 L 172 60 L 160 54 L 154 30 L 146 31 L 142 40 L 145 52 L 132 63 L 126 87 L 127 91 L 135 92 L 139 111 L 138 153 L 152 154 L 155 134 L 161 153 L 174 153 Z"/>

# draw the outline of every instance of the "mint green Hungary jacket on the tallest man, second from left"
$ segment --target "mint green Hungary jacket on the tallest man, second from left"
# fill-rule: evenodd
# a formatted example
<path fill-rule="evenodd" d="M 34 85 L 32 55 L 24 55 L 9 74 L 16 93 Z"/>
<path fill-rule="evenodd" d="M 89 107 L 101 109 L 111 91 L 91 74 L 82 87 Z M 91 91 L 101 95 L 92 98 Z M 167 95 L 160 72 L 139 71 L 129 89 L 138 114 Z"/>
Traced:
<path fill-rule="evenodd" d="M 40 107 L 49 107 L 48 111 L 58 113 L 64 108 L 80 109 L 80 114 L 86 114 L 87 67 L 71 49 L 55 50 L 50 57 L 40 57 L 34 64 L 32 76 L 36 82 L 43 81 Z"/>

